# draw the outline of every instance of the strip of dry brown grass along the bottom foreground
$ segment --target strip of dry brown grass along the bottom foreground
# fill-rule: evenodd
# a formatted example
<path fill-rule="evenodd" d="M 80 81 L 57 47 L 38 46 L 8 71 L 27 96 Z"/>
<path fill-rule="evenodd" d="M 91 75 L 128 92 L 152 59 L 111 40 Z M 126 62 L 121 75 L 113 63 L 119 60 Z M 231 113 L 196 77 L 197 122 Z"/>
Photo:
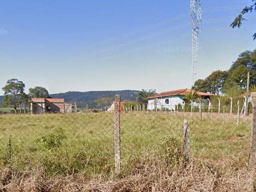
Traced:
<path fill-rule="evenodd" d="M 246 170 L 220 173 L 207 165 L 179 162 L 168 167 L 154 162 L 130 176 L 84 180 L 80 175 L 47 177 L 43 170 L 25 174 L 2 172 L 9 178 L 5 192 L 245 192 L 249 190 Z"/>

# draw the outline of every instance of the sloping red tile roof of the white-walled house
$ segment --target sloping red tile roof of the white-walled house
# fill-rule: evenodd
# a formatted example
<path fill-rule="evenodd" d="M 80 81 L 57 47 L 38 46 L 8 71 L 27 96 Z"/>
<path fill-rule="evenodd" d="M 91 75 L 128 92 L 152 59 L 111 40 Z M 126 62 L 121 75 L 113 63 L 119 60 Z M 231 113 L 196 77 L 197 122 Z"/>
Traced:
<path fill-rule="evenodd" d="M 187 89 L 187 88 L 186 89 L 178 89 L 178 90 L 173 90 L 173 91 L 162 92 L 162 93 L 156 94 L 155 96 L 148 97 L 147 99 L 175 96 L 175 95 L 186 95 L 187 93 L 190 93 L 190 92 L 194 92 L 194 90 Z M 199 91 L 197 91 L 197 94 L 200 96 L 215 96 L 214 94 L 211 94 L 211 93 L 204 93 L 204 92 L 199 92 Z"/>

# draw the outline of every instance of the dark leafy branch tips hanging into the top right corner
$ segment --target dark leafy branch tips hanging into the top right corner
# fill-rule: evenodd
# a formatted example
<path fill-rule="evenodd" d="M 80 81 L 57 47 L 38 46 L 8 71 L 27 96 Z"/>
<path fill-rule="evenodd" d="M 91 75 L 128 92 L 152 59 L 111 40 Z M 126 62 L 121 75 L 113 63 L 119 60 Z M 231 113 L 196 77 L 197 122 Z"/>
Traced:
<path fill-rule="evenodd" d="M 234 19 L 232 24 L 230 25 L 232 28 L 238 27 L 240 28 L 242 26 L 242 22 L 246 20 L 244 18 L 244 15 L 247 14 L 248 12 L 256 11 L 256 0 L 252 0 L 253 4 L 251 6 L 246 6 L 240 14 Z M 256 33 L 253 34 L 253 40 L 256 39 Z"/>

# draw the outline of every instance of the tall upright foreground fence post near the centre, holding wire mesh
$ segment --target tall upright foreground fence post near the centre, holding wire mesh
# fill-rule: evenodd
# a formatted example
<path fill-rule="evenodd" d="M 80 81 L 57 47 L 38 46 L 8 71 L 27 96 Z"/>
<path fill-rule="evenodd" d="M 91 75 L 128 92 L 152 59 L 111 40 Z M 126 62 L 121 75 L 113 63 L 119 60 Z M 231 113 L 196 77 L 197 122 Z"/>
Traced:
<path fill-rule="evenodd" d="M 120 95 L 114 101 L 115 171 L 120 171 Z"/>

